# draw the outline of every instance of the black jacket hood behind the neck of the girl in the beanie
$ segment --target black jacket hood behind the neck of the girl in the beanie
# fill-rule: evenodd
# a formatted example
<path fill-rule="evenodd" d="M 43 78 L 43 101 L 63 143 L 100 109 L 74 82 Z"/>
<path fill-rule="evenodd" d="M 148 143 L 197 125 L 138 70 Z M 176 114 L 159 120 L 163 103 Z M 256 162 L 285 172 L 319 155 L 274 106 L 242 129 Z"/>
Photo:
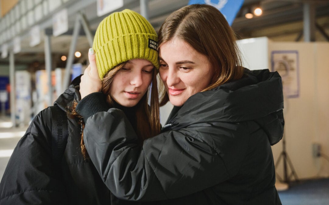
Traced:
<path fill-rule="evenodd" d="M 71 85 L 57 98 L 54 105 L 58 105 L 63 111 L 67 110 L 73 100 L 79 101 L 81 99 L 80 92 L 78 90 L 81 81 L 81 75 L 74 78 Z"/>

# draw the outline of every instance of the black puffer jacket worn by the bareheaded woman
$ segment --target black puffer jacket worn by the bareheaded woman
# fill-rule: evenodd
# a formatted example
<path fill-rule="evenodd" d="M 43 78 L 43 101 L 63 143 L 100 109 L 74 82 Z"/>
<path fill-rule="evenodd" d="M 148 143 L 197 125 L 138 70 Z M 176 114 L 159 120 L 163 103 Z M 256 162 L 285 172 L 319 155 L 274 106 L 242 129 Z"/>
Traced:
<path fill-rule="evenodd" d="M 191 96 L 143 146 L 122 111 L 92 110 L 88 98 L 78 104 L 87 119 L 86 147 L 117 197 L 158 200 L 150 204 L 281 204 L 271 151 L 284 127 L 277 72 L 245 69 L 242 79 Z"/>

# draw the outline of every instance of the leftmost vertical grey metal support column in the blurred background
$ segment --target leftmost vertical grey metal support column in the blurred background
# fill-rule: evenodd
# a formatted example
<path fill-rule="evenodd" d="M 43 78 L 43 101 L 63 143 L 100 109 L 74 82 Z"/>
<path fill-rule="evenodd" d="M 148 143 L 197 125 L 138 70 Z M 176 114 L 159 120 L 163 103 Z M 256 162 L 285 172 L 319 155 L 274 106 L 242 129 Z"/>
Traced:
<path fill-rule="evenodd" d="M 16 89 L 15 89 L 15 61 L 14 61 L 14 52 L 9 51 L 9 81 L 10 81 L 10 118 L 13 123 L 13 127 L 16 126 Z"/>

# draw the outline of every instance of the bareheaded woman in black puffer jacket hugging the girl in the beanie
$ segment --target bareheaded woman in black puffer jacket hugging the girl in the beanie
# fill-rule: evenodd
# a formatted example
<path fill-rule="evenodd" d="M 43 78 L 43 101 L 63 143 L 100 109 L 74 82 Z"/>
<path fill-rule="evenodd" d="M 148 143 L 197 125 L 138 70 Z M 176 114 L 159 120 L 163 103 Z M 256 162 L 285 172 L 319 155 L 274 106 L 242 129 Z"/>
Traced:
<path fill-rule="evenodd" d="M 111 192 L 157 205 L 281 204 L 271 151 L 284 127 L 280 75 L 243 68 L 234 32 L 209 5 L 169 15 L 159 59 L 163 102 L 174 105 L 160 134 L 139 145 L 119 109 L 78 111 L 90 159 Z M 83 80 L 78 106 L 100 105 L 94 83 Z"/>

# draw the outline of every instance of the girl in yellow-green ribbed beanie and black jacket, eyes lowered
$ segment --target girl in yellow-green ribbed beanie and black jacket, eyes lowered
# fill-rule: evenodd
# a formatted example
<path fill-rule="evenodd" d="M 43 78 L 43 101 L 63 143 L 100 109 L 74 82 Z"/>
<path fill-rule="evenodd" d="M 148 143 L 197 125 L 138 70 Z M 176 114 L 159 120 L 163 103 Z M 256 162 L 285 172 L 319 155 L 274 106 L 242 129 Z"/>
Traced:
<path fill-rule="evenodd" d="M 84 121 L 76 110 L 103 107 L 123 110 L 139 136 L 136 142 L 139 145 L 158 134 L 157 34 L 137 12 L 115 12 L 99 24 L 89 54 L 93 58 L 91 65 L 98 67 L 98 79 L 93 82 L 101 91 L 92 95 L 101 97 L 103 104 L 91 101 L 77 106 L 81 99 L 80 76 L 55 101 L 68 116 L 62 119 L 68 122 L 68 138 L 60 164 L 52 159 L 53 113 L 49 107 L 38 113 L 8 162 L 0 183 L 1 205 L 140 204 L 118 199 L 103 183 L 86 152 Z M 89 75 L 92 73 L 85 72 L 81 78 Z M 106 121 L 99 124 L 99 129 L 107 127 Z"/>

